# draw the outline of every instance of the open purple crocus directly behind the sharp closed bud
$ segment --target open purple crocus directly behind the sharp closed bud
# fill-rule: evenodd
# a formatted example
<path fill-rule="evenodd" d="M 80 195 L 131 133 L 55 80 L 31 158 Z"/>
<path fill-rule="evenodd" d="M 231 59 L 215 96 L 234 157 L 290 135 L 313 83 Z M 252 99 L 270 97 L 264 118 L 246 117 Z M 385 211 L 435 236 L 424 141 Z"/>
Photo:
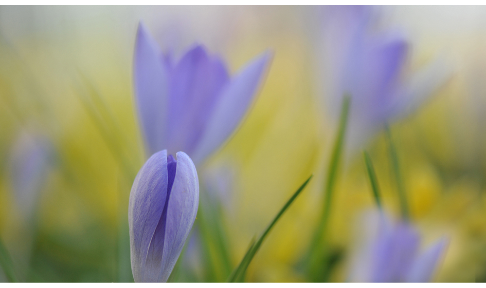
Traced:
<path fill-rule="evenodd" d="M 147 154 L 184 151 L 200 164 L 241 122 L 270 58 L 263 53 L 230 77 L 224 62 L 202 46 L 173 62 L 140 24 L 134 81 Z"/>

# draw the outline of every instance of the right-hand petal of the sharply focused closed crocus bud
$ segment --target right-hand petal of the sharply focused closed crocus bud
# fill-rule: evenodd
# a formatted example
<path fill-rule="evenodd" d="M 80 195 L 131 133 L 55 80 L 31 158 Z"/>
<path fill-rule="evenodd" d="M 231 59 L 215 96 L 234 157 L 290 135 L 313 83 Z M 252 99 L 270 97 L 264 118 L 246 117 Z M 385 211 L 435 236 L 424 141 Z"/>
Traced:
<path fill-rule="evenodd" d="M 167 204 L 159 282 L 166 282 L 169 278 L 198 212 L 199 181 L 196 167 L 184 152 L 178 152 L 176 156 L 177 170 Z"/>

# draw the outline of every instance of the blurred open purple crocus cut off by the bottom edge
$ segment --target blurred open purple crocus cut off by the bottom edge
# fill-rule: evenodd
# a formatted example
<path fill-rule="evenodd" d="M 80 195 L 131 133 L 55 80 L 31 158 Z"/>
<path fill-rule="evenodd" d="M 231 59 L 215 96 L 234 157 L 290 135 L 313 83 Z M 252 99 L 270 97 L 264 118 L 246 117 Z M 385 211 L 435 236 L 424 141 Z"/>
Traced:
<path fill-rule="evenodd" d="M 409 223 L 392 223 L 382 213 L 367 213 L 352 255 L 351 282 L 430 282 L 447 241 L 419 252 L 420 235 Z"/>

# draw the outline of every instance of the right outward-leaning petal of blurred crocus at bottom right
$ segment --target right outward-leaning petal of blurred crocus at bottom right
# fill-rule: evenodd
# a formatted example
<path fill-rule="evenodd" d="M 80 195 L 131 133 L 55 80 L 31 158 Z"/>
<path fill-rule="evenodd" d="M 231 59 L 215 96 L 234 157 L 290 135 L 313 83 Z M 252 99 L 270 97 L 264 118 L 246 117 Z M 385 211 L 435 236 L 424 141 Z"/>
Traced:
<path fill-rule="evenodd" d="M 430 282 L 437 268 L 440 258 L 443 256 L 447 240 L 441 239 L 427 251 L 418 256 L 408 272 L 407 282 Z"/>

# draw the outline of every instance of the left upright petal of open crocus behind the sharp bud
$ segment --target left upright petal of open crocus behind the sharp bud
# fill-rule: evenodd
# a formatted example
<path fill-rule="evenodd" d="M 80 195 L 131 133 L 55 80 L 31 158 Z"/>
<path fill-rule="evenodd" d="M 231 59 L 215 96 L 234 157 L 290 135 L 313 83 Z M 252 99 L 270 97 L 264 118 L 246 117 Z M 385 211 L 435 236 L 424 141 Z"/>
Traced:
<path fill-rule="evenodd" d="M 134 84 L 148 155 L 166 147 L 167 73 L 157 43 L 140 23 L 135 42 Z"/>

